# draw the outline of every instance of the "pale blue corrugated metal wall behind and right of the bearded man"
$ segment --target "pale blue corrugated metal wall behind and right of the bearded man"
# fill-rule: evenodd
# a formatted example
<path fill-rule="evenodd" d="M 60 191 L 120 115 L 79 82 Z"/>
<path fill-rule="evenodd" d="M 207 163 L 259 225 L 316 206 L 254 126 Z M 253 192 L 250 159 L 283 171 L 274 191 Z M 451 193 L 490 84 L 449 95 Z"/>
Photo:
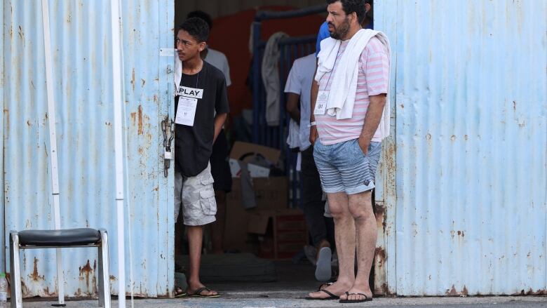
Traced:
<path fill-rule="evenodd" d="M 547 2 L 377 4 L 396 63 L 389 289 L 546 293 Z"/>

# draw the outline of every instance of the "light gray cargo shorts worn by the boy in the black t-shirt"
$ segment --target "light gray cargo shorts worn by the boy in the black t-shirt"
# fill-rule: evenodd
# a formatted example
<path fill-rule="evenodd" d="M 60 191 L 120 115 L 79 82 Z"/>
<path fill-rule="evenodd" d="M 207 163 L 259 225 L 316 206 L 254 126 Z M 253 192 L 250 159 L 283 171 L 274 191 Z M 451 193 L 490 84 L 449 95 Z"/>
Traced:
<path fill-rule="evenodd" d="M 175 170 L 175 221 L 181 205 L 184 225 L 203 226 L 215 221 L 217 201 L 213 182 L 210 164 L 200 174 L 190 178 Z"/>

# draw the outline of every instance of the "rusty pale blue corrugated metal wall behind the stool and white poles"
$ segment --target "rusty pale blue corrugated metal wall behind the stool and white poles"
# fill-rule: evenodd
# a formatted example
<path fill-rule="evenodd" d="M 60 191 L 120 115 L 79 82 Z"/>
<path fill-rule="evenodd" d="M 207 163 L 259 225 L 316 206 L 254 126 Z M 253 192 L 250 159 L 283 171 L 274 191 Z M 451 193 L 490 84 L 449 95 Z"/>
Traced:
<path fill-rule="evenodd" d="M 6 229 L 53 228 L 41 1 L 4 5 Z M 159 125 L 173 80 L 173 0 L 121 1 L 125 80 L 126 277 L 137 295 L 173 288 L 173 177 L 163 177 Z M 109 230 L 117 293 L 110 1 L 50 1 L 61 226 Z M 172 106 L 171 106 L 172 108 Z M 172 170 L 171 170 L 172 171 Z M 131 238 L 128 235 L 131 235 Z M 95 295 L 97 253 L 64 249 L 67 296 Z M 8 260 L 3 259 L 1 263 Z M 55 250 L 22 253 L 23 295 L 56 293 Z M 128 283 L 128 288 L 129 288 Z M 128 289 L 129 291 L 129 289 Z"/>

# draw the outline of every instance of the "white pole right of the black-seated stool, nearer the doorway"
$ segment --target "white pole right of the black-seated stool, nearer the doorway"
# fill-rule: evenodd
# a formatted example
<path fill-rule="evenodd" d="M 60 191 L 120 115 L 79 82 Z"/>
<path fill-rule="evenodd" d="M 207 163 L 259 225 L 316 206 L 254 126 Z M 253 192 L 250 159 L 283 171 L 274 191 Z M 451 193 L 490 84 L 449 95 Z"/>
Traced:
<path fill-rule="evenodd" d="M 123 220 L 123 107 L 121 93 L 121 41 L 119 0 L 111 1 L 112 12 L 112 83 L 114 86 L 114 152 L 116 154 L 116 217 L 118 221 L 118 307 L 126 307 L 126 256 Z"/>

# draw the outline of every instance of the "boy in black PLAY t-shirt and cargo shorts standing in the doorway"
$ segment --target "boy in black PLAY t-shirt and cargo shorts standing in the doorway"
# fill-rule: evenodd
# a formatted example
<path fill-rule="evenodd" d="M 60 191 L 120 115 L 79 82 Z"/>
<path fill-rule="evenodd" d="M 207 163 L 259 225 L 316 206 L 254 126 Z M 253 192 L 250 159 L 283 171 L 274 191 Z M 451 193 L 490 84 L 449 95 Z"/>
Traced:
<path fill-rule="evenodd" d="M 182 203 L 189 243 L 187 295 L 218 297 L 199 279 L 203 226 L 215 221 L 217 204 L 209 159 L 229 112 L 222 72 L 201 60 L 209 36 L 207 23 L 189 18 L 177 31 L 182 74 L 175 97 L 175 220 Z M 216 112 L 216 114 L 215 114 Z"/>

